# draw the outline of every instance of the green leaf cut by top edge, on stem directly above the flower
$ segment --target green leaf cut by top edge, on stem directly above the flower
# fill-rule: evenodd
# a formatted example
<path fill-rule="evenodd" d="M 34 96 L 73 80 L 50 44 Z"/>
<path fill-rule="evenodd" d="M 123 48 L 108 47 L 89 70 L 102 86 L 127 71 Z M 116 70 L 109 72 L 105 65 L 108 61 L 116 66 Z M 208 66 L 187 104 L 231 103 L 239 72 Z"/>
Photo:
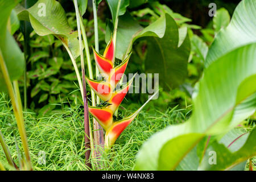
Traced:
<path fill-rule="evenodd" d="M 113 23 L 115 22 L 115 18 L 117 16 L 117 14 L 118 14 L 118 16 L 125 14 L 126 7 L 129 6 L 129 0 L 106 0 L 106 2 L 109 5 Z M 120 3 L 119 11 L 117 10 L 118 3 Z"/>

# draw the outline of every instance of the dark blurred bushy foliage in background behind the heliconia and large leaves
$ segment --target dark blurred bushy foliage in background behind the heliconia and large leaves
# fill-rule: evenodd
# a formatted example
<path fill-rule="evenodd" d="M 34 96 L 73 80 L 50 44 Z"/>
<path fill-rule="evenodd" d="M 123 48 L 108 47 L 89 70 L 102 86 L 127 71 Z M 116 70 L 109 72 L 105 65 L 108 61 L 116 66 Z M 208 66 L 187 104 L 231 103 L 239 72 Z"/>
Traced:
<path fill-rule="evenodd" d="M 28 6 L 32 6 L 36 1 L 28 1 Z M 76 17 L 73 1 L 59 0 L 67 13 L 67 18 L 73 30 L 76 30 Z M 159 110 L 167 108 L 186 108 L 191 105 L 191 95 L 195 83 L 201 77 L 203 71 L 203 60 L 200 53 L 207 53 L 208 47 L 213 41 L 214 35 L 218 31 L 213 26 L 213 18 L 208 15 L 209 3 L 216 3 L 217 9 L 222 9 L 228 13 L 224 19 L 230 19 L 239 0 L 210 1 L 210 0 L 140 0 L 130 1 L 127 9 L 133 18 L 143 27 L 154 22 L 162 14 L 159 7 L 163 7 L 176 20 L 177 26 L 187 27 L 191 40 L 191 55 L 188 60 L 188 73 L 182 85 L 175 88 L 160 90 L 158 100 L 151 102 L 147 107 L 156 107 Z M 106 46 L 106 24 L 110 21 L 111 14 L 105 1 L 98 5 L 98 26 L 100 39 L 100 53 Z M 88 36 L 89 47 L 94 46 L 92 1 L 88 1 L 88 9 L 84 15 L 84 24 Z M 15 33 L 15 38 L 20 43 L 20 48 L 24 51 L 24 37 L 21 31 Z M 198 45 L 201 44 L 200 50 Z M 144 73 L 145 63 L 147 63 L 147 43 L 143 39 L 137 40 L 133 46 L 133 55 L 129 61 L 126 73 Z M 28 48 L 30 57 L 27 61 L 27 92 L 28 107 L 31 111 L 39 113 L 38 117 L 49 112 L 55 112 L 61 107 L 80 104 L 81 97 L 78 90 L 75 71 L 68 53 L 53 35 L 38 36 L 34 31 L 30 33 L 30 44 Z M 93 60 L 92 49 L 90 49 Z M 204 54 L 205 54 L 204 53 Z M 206 54 L 205 54 L 206 55 Z M 95 67 L 94 61 L 92 61 Z M 80 59 L 77 59 L 80 67 Z M 23 92 L 23 78 L 19 84 Z M 160 87 L 162 85 L 160 84 Z M 87 88 L 89 90 L 89 87 Z M 23 93 L 21 94 L 23 96 Z M 134 110 L 137 105 L 141 105 L 147 100 L 148 94 L 127 94 L 122 107 Z M 89 96 L 90 97 L 90 96 Z M 60 104 L 61 105 L 56 105 Z M 136 105 L 136 106 L 135 106 Z M 41 113 L 41 114 L 40 114 Z"/>

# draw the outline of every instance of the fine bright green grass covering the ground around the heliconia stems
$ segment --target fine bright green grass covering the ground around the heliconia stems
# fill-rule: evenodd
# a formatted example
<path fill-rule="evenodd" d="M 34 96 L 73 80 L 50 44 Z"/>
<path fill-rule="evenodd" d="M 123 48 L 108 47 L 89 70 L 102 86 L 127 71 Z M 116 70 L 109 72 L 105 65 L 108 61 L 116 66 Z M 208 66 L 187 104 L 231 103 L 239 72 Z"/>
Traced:
<path fill-rule="evenodd" d="M 61 108 L 63 104 L 58 107 Z M 127 115 L 139 107 L 127 105 L 122 115 Z M 132 170 L 135 156 L 143 142 L 151 135 L 169 125 L 184 122 L 191 113 L 187 109 L 168 109 L 162 113 L 148 105 L 141 114 L 127 127 L 115 142 L 108 155 L 93 160 L 93 170 Z M 34 170 L 88 170 L 85 166 L 84 119 L 81 106 L 70 106 L 56 110 L 51 115 L 37 118 L 37 114 L 27 112 L 25 115 L 28 144 Z M 10 103 L 0 96 L 0 129 L 10 147 L 11 154 L 18 164 L 15 138 L 22 146 Z M 22 148 L 20 147 L 20 150 Z M 38 163 L 39 152 L 46 154 L 46 164 Z M 5 155 L 0 149 L 0 161 L 7 168 Z M 96 164 L 100 167 L 97 168 Z M 253 158 L 255 169 L 255 158 Z M 249 164 L 247 163 L 246 169 Z"/>

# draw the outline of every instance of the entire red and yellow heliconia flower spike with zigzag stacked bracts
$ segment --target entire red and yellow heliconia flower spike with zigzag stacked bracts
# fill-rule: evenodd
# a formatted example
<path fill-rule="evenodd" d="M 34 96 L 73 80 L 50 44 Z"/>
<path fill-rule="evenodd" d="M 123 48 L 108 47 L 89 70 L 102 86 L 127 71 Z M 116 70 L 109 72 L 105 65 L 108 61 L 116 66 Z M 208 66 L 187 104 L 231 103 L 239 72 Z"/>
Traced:
<path fill-rule="evenodd" d="M 121 89 L 114 90 L 121 80 L 123 73 L 125 73 L 131 53 L 121 64 L 114 68 L 114 44 L 112 38 L 110 39 L 103 56 L 97 53 L 94 49 L 93 53 L 96 65 L 104 76 L 104 80 L 96 81 L 86 77 L 86 82 L 97 96 L 100 97 L 101 100 L 107 101 L 109 105 L 106 107 L 89 106 L 89 112 L 106 131 L 105 146 L 106 148 L 109 148 L 114 144 L 122 131 L 125 130 L 138 115 L 144 105 L 129 117 L 120 121 L 113 121 L 113 113 L 115 113 L 123 101 L 123 98 L 125 98 L 135 77 L 131 78 Z"/>

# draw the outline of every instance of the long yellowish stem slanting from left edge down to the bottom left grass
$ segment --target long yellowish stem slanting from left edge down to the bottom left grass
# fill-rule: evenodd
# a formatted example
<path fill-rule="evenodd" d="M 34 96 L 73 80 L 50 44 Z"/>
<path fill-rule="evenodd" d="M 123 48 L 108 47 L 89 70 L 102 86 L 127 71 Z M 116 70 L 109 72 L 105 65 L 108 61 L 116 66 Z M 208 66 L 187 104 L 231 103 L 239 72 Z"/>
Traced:
<path fill-rule="evenodd" d="M 15 96 L 13 85 L 11 85 L 11 79 L 10 79 L 9 72 L 6 67 L 5 61 L 3 60 L 1 50 L 0 50 L 0 67 L 2 70 L 3 77 L 5 78 L 7 89 L 8 89 L 10 98 L 11 98 L 11 104 L 13 105 L 14 115 L 15 115 L 16 122 L 18 125 L 20 138 L 22 140 L 24 153 L 26 156 L 27 167 L 28 167 L 28 169 L 32 170 L 32 164 L 31 164 L 31 159 L 30 159 L 30 152 L 28 150 L 27 135 L 26 135 L 25 125 L 24 125 L 22 108 L 19 106 L 19 101 Z"/>

